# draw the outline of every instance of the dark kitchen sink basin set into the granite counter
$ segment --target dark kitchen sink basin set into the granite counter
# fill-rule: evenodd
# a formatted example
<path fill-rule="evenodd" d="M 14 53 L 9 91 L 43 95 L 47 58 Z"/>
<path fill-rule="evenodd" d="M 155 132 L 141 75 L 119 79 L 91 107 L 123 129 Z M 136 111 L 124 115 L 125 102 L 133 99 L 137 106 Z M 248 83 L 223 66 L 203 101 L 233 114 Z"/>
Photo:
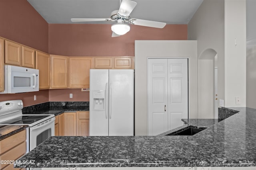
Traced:
<path fill-rule="evenodd" d="M 178 131 L 172 132 L 167 134 L 167 136 L 169 135 L 186 135 L 186 136 L 191 136 L 191 135 L 195 135 L 196 133 L 206 129 L 207 127 L 196 127 L 196 126 L 188 126 L 185 127 L 183 129 L 180 129 Z"/>

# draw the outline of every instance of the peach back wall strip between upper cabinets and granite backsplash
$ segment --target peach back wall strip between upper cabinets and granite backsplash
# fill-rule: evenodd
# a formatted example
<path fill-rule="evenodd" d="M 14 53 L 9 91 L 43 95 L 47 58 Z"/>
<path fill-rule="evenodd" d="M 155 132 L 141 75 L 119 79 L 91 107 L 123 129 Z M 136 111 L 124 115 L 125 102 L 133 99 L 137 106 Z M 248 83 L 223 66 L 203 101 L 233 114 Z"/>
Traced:
<path fill-rule="evenodd" d="M 73 98 L 69 98 L 69 94 L 73 94 Z M 50 89 L 50 102 L 87 102 L 89 101 L 89 92 L 81 92 L 81 89 Z"/>

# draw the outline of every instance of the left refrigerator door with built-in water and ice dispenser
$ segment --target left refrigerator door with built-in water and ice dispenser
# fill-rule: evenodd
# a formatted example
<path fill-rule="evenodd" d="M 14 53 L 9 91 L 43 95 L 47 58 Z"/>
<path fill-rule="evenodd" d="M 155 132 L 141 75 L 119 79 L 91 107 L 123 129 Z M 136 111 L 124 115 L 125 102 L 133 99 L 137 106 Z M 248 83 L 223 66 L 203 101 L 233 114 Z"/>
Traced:
<path fill-rule="evenodd" d="M 104 94 L 95 95 L 93 94 L 95 92 L 104 92 Z M 99 107 L 100 101 L 104 101 L 104 107 Z M 94 107 L 94 103 L 99 106 Z M 90 69 L 89 121 L 90 136 L 108 136 L 108 70 L 106 69 Z"/>

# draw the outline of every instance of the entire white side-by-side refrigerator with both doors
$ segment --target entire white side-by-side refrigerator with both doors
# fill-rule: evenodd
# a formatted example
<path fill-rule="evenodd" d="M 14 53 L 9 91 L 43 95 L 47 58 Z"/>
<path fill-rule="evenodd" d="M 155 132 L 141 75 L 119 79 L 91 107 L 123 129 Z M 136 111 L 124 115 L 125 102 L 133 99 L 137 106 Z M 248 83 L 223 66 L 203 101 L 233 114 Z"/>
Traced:
<path fill-rule="evenodd" d="M 90 69 L 90 136 L 134 135 L 134 70 Z"/>

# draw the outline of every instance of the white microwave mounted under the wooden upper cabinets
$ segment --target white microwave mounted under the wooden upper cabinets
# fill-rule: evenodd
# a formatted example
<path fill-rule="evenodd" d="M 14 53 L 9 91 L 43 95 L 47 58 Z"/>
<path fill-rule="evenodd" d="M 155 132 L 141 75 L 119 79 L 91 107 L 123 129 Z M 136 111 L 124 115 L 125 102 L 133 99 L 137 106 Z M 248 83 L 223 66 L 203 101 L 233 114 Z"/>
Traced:
<path fill-rule="evenodd" d="M 4 66 L 4 93 L 39 91 L 39 70 L 19 66 Z"/>

